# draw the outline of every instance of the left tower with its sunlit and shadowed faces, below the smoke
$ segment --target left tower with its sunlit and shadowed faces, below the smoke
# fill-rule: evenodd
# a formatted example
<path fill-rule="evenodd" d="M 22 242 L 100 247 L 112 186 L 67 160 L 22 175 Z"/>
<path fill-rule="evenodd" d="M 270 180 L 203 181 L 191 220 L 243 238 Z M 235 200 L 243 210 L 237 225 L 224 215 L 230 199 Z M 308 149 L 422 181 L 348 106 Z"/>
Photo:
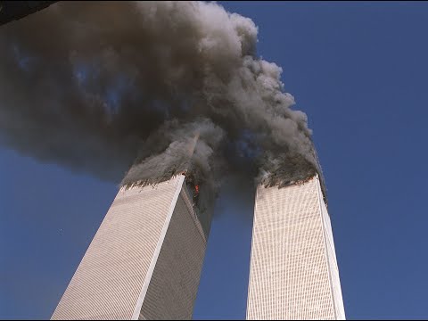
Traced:
<path fill-rule="evenodd" d="M 194 202 L 185 175 L 122 187 L 52 319 L 191 319 L 210 230 Z"/>

